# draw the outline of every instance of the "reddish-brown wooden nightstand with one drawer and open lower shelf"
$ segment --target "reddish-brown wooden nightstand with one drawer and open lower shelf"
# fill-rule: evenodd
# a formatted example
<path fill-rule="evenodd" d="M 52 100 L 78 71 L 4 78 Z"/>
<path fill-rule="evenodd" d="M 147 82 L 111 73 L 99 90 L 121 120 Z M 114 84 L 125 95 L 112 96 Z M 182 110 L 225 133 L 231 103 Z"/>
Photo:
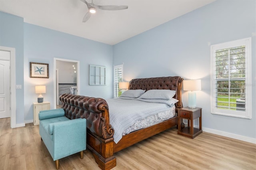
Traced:
<path fill-rule="evenodd" d="M 199 128 L 194 128 L 193 120 L 198 118 Z M 188 127 L 181 128 L 183 119 L 188 120 Z M 195 109 L 192 109 L 189 107 L 183 107 L 178 109 L 178 134 L 193 139 L 202 132 L 202 108 L 196 107 Z"/>

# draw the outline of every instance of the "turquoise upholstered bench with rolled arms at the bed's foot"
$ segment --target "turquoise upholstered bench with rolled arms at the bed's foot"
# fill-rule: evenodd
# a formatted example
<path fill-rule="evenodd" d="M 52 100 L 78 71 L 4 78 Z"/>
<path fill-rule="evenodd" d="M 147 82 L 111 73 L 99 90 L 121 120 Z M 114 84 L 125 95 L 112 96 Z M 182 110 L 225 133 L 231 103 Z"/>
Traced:
<path fill-rule="evenodd" d="M 39 133 L 59 168 L 59 159 L 86 149 L 86 119 L 68 119 L 64 109 L 40 111 Z"/>

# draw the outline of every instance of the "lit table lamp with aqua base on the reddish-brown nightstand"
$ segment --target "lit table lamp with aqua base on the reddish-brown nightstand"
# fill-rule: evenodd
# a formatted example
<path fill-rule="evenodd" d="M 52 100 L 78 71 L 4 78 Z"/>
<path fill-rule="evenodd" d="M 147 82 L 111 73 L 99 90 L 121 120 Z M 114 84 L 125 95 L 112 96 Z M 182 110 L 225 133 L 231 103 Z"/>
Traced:
<path fill-rule="evenodd" d="M 183 90 L 188 92 L 188 107 L 196 108 L 196 92 L 201 90 L 201 80 L 184 80 Z"/>

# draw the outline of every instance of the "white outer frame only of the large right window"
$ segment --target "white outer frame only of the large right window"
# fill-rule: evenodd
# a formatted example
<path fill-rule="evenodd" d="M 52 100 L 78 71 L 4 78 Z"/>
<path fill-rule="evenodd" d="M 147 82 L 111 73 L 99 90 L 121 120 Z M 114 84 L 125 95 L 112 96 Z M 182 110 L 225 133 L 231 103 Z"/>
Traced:
<path fill-rule="evenodd" d="M 216 71 L 215 71 L 215 51 L 218 49 L 225 49 L 230 47 L 236 47 L 245 45 L 245 87 L 246 87 L 246 100 L 245 111 L 218 109 L 216 105 L 215 97 L 215 83 L 216 83 Z M 235 40 L 226 43 L 219 43 L 211 45 L 211 113 L 216 115 L 224 115 L 230 117 L 239 117 L 244 119 L 252 119 L 252 40 L 251 38 L 245 38 Z"/>

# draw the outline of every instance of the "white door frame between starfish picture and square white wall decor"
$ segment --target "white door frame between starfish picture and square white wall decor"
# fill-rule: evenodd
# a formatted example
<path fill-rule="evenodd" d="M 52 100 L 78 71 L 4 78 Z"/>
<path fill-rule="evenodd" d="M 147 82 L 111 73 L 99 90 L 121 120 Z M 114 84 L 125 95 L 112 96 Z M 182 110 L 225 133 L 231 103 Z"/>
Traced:
<path fill-rule="evenodd" d="M 53 67 L 54 67 L 54 80 L 53 80 L 53 83 L 54 83 L 54 101 L 53 101 L 53 105 L 54 105 L 54 109 L 56 109 L 56 106 L 57 106 L 57 102 L 56 102 L 56 99 L 57 99 L 57 92 L 56 92 L 56 89 L 57 89 L 57 83 L 56 83 L 56 61 L 67 61 L 67 62 L 72 62 L 72 63 L 77 63 L 76 67 L 77 67 L 77 78 L 76 78 L 76 89 L 77 89 L 77 95 L 80 94 L 80 62 L 78 60 L 72 60 L 72 59 L 63 59 L 63 58 L 55 58 L 54 57 L 54 61 L 53 61 Z"/>

